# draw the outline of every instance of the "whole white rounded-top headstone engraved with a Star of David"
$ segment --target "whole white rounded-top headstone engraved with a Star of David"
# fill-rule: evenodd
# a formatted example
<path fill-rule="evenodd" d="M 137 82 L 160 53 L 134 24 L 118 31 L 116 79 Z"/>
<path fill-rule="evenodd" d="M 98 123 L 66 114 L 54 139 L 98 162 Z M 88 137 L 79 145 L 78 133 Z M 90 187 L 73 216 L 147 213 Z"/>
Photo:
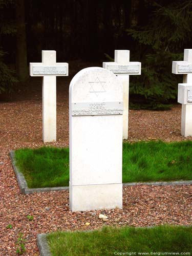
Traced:
<path fill-rule="evenodd" d="M 83 69 L 70 83 L 70 208 L 122 208 L 123 87 L 110 71 Z"/>

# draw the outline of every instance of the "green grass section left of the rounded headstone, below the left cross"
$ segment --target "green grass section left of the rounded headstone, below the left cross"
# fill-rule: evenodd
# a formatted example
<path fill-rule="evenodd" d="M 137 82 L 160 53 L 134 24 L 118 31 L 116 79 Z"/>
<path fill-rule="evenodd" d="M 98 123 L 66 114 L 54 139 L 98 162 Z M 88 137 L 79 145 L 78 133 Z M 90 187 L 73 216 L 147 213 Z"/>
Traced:
<path fill-rule="evenodd" d="M 15 158 L 29 188 L 69 186 L 69 148 L 24 148 Z"/>

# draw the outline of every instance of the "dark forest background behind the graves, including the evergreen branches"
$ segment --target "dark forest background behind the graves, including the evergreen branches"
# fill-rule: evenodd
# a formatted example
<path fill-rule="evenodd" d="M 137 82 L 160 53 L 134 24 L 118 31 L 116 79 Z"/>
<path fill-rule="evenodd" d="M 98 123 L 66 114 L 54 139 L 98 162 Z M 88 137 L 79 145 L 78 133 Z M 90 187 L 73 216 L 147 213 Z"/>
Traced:
<path fill-rule="evenodd" d="M 134 108 L 166 109 L 182 77 L 172 61 L 192 48 L 192 2 L 173 0 L 0 0 L 0 93 L 28 86 L 29 62 L 56 50 L 58 62 L 112 60 L 130 50 L 142 62 L 132 76 Z M 70 68 L 70 67 L 69 67 Z"/>

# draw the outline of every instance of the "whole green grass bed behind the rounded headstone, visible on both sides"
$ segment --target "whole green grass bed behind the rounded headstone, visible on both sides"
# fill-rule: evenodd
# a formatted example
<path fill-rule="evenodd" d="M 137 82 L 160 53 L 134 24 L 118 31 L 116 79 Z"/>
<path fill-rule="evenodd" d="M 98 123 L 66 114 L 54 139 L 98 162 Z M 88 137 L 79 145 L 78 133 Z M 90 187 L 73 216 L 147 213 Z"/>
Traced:
<path fill-rule="evenodd" d="M 69 185 L 69 148 L 25 148 L 15 157 L 30 188 Z M 192 180 L 191 166 L 191 141 L 123 143 L 123 182 Z"/>

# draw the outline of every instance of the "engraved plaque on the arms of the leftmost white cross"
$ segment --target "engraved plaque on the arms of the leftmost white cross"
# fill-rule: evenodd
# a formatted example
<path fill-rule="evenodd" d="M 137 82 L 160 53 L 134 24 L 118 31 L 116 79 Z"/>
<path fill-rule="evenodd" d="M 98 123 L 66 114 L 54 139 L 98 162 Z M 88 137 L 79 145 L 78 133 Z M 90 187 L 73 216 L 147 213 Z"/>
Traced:
<path fill-rule="evenodd" d="M 66 75 L 66 66 L 33 66 L 33 75 Z"/>

